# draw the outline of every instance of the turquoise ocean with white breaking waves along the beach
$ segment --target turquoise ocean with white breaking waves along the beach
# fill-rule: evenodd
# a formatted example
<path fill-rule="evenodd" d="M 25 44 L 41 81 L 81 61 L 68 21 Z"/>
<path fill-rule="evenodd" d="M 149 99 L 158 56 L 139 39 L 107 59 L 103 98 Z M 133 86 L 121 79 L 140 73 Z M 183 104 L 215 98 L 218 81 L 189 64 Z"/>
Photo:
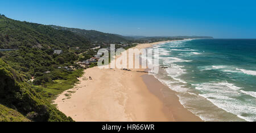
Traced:
<path fill-rule="evenodd" d="M 204 121 L 256 121 L 256 40 L 199 39 L 154 45 L 155 78 Z"/>

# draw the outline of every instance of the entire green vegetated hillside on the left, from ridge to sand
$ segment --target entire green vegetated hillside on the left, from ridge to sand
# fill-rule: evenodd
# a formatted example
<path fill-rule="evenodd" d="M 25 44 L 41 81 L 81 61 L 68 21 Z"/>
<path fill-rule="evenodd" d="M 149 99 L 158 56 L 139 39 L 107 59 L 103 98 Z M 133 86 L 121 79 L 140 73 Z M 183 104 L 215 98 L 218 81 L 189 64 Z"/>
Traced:
<path fill-rule="evenodd" d="M 0 52 L 0 121 L 73 121 L 51 100 L 82 75 L 74 63 L 77 51 L 69 49 L 74 46 L 93 47 L 88 38 L 73 32 L 0 16 L 0 49 L 17 48 Z M 54 49 L 63 53 L 53 54 Z M 69 71 L 71 65 L 77 70 Z"/>

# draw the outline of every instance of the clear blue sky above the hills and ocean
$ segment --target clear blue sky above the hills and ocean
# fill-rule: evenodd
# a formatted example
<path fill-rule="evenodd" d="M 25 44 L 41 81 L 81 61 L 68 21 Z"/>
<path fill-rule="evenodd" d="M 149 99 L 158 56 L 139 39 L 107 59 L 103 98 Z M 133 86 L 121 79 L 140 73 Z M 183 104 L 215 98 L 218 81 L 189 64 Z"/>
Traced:
<path fill-rule="evenodd" d="M 0 14 L 120 35 L 256 38 L 255 0 L 6 0 Z"/>

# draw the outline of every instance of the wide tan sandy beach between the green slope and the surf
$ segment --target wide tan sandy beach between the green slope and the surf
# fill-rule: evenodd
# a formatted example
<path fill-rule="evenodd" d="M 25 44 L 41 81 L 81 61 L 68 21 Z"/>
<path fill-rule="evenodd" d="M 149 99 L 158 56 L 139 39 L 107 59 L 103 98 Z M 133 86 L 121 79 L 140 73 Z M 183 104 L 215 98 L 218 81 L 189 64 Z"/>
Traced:
<path fill-rule="evenodd" d="M 159 43 L 139 44 L 136 48 Z M 201 121 L 180 104 L 174 91 L 154 76 L 137 71 L 88 68 L 80 82 L 57 97 L 54 104 L 79 122 Z"/>

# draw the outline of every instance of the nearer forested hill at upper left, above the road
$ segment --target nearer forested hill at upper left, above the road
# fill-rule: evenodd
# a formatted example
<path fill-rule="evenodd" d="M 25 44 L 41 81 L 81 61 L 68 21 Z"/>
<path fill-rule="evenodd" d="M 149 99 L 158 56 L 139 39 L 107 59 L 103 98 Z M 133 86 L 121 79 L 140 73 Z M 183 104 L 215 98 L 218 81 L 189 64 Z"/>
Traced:
<path fill-rule="evenodd" d="M 91 48 L 89 38 L 48 25 L 20 22 L 0 15 L 0 49 L 28 48 L 65 49 L 68 46 Z"/>

